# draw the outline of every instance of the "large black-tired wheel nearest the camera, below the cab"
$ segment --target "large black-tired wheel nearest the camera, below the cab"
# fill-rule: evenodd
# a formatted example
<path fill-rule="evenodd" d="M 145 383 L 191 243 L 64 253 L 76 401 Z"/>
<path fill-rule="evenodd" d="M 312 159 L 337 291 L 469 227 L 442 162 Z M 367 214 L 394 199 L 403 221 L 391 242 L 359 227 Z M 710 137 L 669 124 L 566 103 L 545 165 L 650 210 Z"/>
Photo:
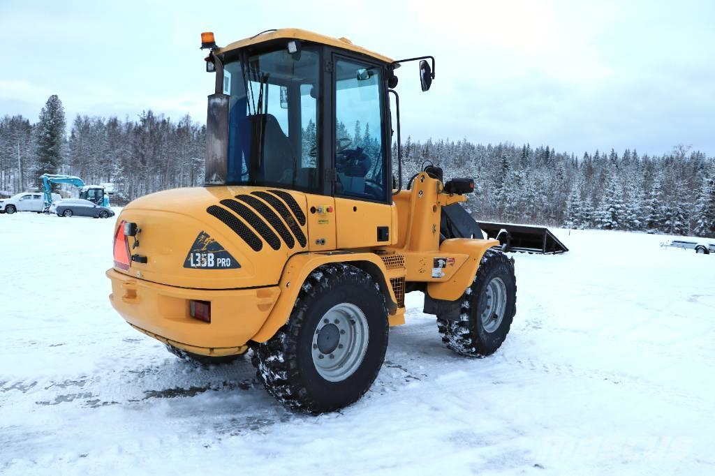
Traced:
<path fill-rule="evenodd" d="M 266 390 L 294 410 L 332 412 L 368 391 L 385 360 L 388 312 L 370 274 L 326 264 L 302 285 L 288 322 L 253 353 Z"/>

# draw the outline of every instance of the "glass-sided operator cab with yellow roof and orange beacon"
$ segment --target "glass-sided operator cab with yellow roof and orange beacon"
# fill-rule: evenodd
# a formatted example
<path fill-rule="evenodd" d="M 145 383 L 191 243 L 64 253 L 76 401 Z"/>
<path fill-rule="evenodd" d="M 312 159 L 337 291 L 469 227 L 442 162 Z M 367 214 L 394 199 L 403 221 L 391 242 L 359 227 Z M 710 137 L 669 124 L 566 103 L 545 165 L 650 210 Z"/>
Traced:
<path fill-rule="evenodd" d="M 212 49 L 207 70 L 217 74 L 207 120 L 217 147 L 207 152 L 207 185 L 392 203 L 388 91 L 398 62 L 296 29 L 225 48 L 211 36 L 202 47 Z M 212 111 L 221 104 L 213 97 L 227 112 Z"/>

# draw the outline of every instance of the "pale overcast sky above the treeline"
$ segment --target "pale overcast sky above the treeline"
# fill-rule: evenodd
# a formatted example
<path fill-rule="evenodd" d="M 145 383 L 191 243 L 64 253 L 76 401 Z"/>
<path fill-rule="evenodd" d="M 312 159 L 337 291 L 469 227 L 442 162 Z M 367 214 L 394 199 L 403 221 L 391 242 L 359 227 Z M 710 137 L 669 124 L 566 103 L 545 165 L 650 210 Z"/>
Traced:
<path fill-rule="evenodd" d="M 549 144 L 583 154 L 691 144 L 715 155 L 715 1 L 0 0 L 0 115 L 33 122 L 59 94 L 76 114 L 154 109 L 205 119 L 217 43 L 297 27 L 394 59 L 403 135 Z"/>

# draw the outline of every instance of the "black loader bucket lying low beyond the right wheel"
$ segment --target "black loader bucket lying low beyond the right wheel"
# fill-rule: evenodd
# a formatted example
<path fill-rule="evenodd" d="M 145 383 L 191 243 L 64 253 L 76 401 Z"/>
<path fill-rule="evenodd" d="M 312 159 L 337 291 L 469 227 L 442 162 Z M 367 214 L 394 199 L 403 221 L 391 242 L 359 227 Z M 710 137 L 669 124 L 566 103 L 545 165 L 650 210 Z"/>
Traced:
<path fill-rule="evenodd" d="M 507 252 L 556 254 L 568 248 L 545 227 L 510 223 L 478 222 L 487 238 L 498 239 Z"/>

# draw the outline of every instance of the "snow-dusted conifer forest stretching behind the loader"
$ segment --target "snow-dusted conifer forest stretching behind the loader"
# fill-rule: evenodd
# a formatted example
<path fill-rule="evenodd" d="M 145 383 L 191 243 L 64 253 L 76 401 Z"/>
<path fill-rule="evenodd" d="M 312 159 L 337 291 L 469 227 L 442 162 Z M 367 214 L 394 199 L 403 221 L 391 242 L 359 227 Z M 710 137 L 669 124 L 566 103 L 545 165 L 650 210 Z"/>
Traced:
<path fill-rule="evenodd" d="M 0 196 L 37 187 L 45 172 L 112 183 L 116 204 L 202 184 L 205 127 L 188 115 L 178 122 L 152 111 L 137 120 L 77 116 L 69 135 L 66 128 L 57 96 L 36 124 L 0 119 Z M 340 134 L 377 147 L 368 128 L 355 124 L 354 131 L 342 125 Z M 315 124 L 303 137 L 315 141 Z M 715 158 L 686 146 L 659 156 L 610 147 L 577 155 L 548 145 L 408 137 L 403 184 L 427 161 L 443 167 L 445 177 L 475 179 L 468 207 L 477 219 L 715 237 Z"/>

